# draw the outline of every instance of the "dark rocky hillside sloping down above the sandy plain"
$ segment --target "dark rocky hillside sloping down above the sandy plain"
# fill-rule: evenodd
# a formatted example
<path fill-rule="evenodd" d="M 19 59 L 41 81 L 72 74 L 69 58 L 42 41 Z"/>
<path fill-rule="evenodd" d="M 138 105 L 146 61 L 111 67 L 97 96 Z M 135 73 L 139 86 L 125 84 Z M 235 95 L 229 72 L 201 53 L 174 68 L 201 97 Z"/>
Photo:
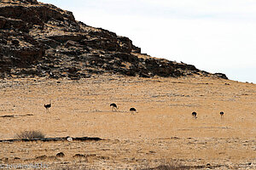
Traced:
<path fill-rule="evenodd" d="M 0 77 L 69 77 L 114 73 L 139 77 L 225 77 L 141 54 L 127 37 L 86 26 L 72 12 L 37 0 L 0 2 Z"/>

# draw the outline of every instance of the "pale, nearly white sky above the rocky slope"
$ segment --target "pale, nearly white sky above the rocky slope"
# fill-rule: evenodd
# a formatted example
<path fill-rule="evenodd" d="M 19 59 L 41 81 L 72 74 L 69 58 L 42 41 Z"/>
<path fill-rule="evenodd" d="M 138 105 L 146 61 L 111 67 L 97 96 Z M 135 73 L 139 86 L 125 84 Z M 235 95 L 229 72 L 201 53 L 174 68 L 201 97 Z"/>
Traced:
<path fill-rule="evenodd" d="M 255 0 L 38 0 L 129 37 L 142 53 L 256 83 Z"/>

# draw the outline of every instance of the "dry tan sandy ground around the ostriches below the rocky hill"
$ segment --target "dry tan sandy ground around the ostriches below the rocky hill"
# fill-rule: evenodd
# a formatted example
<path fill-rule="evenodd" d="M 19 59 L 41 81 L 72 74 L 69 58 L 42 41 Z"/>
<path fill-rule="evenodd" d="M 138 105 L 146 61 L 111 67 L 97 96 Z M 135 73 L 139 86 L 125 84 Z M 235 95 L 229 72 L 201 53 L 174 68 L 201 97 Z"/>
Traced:
<path fill-rule="evenodd" d="M 3 165 L 256 169 L 256 85 L 213 77 L 0 81 L 0 139 L 24 130 L 100 141 L 2 142 Z M 51 100 L 46 113 L 44 104 Z M 111 111 L 110 104 L 119 106 Z M 131 114 L 135 107 L 138 113 Z M 196 111 L 198 118 L 191 116 Z M 224 117 L 219 115 L 224 111 Z M 56 157 L 63 152 L 64 157 Z M 180 167 L 180 168 L 178 168 Z M 29 168 L 28 168 L 29 169 Z"/>

